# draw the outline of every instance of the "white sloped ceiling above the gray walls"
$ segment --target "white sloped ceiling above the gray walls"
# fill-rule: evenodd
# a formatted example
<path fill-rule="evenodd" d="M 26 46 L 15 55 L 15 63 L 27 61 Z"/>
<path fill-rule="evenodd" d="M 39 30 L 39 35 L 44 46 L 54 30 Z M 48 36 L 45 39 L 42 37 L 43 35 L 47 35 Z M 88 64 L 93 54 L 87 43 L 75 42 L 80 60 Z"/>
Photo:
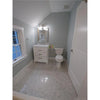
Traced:
<path fill-rule="evenodd" d="M 70 11 L 79 0 L 13 0 L 13 16 L 37 26 L 51 12 Z"/>

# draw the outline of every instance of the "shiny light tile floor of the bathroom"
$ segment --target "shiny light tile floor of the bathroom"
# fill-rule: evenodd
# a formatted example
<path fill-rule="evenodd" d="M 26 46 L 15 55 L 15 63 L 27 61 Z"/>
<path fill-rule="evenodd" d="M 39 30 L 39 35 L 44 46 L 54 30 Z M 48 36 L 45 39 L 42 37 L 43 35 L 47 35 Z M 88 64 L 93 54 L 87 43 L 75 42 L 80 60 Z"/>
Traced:
<path fill-rule="evenodd" d="M 29 69 L 14 91 L 47 100 L 73 100 L 77 96 L 66 64 L 57 69 L 56 62 L 50 60 L 49 64 L 35 63 Z"/>

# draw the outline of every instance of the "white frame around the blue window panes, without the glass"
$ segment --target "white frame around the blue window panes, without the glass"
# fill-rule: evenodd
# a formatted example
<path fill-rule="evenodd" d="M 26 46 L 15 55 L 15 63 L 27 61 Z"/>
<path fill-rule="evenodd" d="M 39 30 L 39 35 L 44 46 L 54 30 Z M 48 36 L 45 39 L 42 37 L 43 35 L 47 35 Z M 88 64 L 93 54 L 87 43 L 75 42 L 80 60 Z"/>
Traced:
<path fill-rule="evenodd" d="M 22 53 L 21 57 L 18 57 L 17 60 L 13 61 L 13 66 L 15 66 L 16 64 L 23 61 L 27 57 L 27 53 L 26 53 L 26 45 L 25 45 L 25 37 L 24 37 L 24 28 L 19 27 L 17 25 L 13 25 L 13 30 L 18 31 L 17 33 L 18 40 L 19 40 L 19 44 L 21 44 L 21 53 Z"/>

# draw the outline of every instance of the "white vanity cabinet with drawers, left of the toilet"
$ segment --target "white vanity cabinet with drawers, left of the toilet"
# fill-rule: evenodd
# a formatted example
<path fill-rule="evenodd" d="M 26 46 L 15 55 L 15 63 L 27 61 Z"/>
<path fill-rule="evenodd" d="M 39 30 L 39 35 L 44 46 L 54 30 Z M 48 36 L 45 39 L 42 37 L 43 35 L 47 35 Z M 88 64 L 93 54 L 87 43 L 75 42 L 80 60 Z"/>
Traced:
<path fill-rule="evenodd" d="M 48 48 L 49 45 L 34 45 L 34 62 L 48 63 Z"/>

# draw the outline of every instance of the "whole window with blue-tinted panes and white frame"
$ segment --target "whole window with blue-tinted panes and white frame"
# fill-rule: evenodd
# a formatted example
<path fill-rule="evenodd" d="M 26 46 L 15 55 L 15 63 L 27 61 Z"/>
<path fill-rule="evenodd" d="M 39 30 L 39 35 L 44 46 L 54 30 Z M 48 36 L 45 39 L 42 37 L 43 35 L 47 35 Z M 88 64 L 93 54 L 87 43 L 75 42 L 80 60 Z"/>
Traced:
<path fill-rule="evenodd" d="M 26 57 L 26 47 L 24 39 L 24 28 L 13 26 L 13 64 L 22 61 Z"/>

